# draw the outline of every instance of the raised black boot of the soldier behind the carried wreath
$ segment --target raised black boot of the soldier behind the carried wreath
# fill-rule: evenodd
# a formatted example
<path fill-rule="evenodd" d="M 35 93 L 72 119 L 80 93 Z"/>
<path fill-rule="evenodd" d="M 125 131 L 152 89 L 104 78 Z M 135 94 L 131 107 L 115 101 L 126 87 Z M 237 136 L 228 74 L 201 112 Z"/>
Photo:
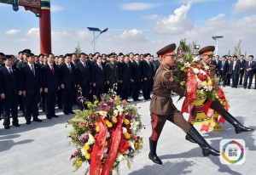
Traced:
<path fill-rule="evenodd" d="M 226 121 L 230 122 L 230 124 L 235 127 L 236 133 L 253 131 L 253 128 L 244 127 L 234 116 L 230 115 L 218 101 L 213 101 L 210 108 L 217 111 L 220 116 L 223 116 Z"/>

